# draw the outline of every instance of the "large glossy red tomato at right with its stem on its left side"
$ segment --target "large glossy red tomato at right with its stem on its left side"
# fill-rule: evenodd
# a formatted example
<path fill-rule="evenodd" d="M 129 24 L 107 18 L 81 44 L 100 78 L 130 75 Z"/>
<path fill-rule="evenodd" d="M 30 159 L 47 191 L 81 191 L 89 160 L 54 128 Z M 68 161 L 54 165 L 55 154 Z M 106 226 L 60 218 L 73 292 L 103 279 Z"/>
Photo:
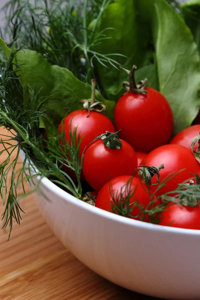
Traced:
<path fill-rule="evenodd" d="M 195 159 L 193 153 L 181 145 L 168 144 L 160 146 L 151 151 L 140 165 L 159 166 L 164 164 L 164 168 L 160 170 L 160 183 L 164 178 L 168 178 L 175 172 L 182 170 L 173 178 L 169 179 L 163 187 L 161 187 L 156 194 L 161 195 L 168 191 L 172 191 L 178 187 L 179 183 L 193 178 L 194 175 L 190 173 L 196 173 L 200 175 L 200 165 Z M 155 183 L 155 176 L 152 177 L 152 183 Z M 195 181 L 195 180 L 194 180 Z M 158 185 L 152 186 L 156 189 Z"/>

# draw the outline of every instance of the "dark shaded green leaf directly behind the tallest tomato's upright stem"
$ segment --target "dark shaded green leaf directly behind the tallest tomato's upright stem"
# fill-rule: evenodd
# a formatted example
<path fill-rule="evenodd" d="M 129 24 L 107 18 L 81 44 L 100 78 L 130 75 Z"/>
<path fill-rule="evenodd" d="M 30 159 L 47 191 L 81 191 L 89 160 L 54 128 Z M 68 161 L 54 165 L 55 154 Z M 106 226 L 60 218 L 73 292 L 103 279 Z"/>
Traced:
<path fill-rule="evenodd" d="M 112 29 L 106 29 L 110 27 Z M 111 38 L 102 40 L 95 47 L 97 52 L 125 55 L 127 58 L 114 55 L 113 58 L 127 69 L 131 69 L 133 64 L 136 64 L 137 67 L 142 65 L 144 55 L 147 52 L 149 32 L 145 25 L 140 27 L 137 22 L 133 1 L 116 0 L 109 4 L 98 24 L 98 31 L 101 32 L 102 30 L 104 30 L 105 37 Z M 127 74 L 114 67 L 106 68 L 100 63 L 97 64 L 96 68 L 106 97 L 117 101 L 123 92 L 122 81 L 127 80 Z"/>

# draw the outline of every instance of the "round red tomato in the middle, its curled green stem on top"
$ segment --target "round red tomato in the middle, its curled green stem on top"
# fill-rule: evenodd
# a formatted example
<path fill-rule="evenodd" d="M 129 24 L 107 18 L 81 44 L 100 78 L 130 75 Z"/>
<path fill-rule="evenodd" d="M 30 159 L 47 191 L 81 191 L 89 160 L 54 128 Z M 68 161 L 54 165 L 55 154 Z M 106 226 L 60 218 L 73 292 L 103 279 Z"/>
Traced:
<path fill-rule="evenodd" d="M 121 149 L 109 149 L 101 139 L 85 149 L 82 171 L 93 189 L 100 190 L 110 178 L 132 175 L 137 167 L 135 151 L 125 140 L 120 141 Z"/>

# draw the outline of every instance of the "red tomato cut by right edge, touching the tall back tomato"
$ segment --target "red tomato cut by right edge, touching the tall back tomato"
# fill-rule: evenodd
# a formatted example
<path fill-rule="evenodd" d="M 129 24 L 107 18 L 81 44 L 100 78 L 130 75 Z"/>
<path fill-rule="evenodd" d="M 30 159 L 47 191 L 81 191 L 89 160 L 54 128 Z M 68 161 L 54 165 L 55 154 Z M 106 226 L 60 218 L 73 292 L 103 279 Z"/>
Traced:
<path fill-rule="evenodd" d="M 200 124 L 185 128 L 171 139 L 170 144 L 178 144 L 191 149 L 191 141 L 195 136 L 199 135 L 199 132 Z M 196 150 L 197 146 L 198 143 L 196 142 L 194 150 Z"/>

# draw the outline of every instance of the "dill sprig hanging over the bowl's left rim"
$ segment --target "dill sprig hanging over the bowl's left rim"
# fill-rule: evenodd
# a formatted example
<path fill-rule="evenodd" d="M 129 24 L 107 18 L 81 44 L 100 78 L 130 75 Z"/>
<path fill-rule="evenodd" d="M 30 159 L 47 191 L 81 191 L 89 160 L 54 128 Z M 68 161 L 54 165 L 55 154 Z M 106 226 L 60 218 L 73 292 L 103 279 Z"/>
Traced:
<path fill-rule="evenodd" d="M 53 139 L 44 139 L 44 129 L 40 128 L 40 119 L 47 118 L 47 116 L 40 108 L 48 97 L 41 97 L 40 91 L 35 93 L 28 87 L 29 101 L 26 105 L 23 104 L 22 88 L 16 75 L 20 66 L 14 64 L 13 70 L 12 62 L 17 51 L 11 52 L 7 64 L 0 68 L 0 125 L 8 130 L 8 133 L 1 135 L 0 138 L 2 145 L 0 155 L 4 152 L 7 155 L 7 158 L 0 164 L 0 196 L 5 206 L 2 214 L 3 227 L 9 225 L 10 232 L 13 219 L 18 224 L 20 223 L 22 209 L 19 205 L 19 198 L 28 193 L 24 182 L 28 181 L 34 185 L 34 176 L 51 178 L 53 182 L 64 187 L 75 197 L 80 199 L 82 196 L 80 184 L 82 158 L 79 158 L 81 142 L 79 135 L 76 142 L 76 129 L 69 132 L 70 145 L 65 140 L 64 131 L 58 132 Z M 63 141 L 64 146 L 60 144 L 60 140 Z M 24 153 L 24 160 L 19 168 L 17 161 L 20 150 Z M 15 157 L 11 159 L 14 151 Z M 75 173 L 77 186 L 61 169 L 63 165 Z M 23 193 L 18 195 L 17 187 L 20 185 Z"/>

